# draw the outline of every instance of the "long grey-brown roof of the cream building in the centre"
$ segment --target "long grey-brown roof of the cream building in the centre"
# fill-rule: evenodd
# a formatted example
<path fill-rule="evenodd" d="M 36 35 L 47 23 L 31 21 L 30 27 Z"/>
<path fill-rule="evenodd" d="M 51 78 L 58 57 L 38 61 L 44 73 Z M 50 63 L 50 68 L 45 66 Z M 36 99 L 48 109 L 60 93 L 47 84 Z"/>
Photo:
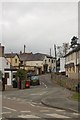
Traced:
<path fill-rule="evenodd" d="M 53 58 L 52 56 L 49 56 L 47 54 L 42 54 L 42 53 L 22 53 L 19 54 L 19 58 L 21 61 L 43 61 L 44 57 L 48 57 L 48 58 Z"/>

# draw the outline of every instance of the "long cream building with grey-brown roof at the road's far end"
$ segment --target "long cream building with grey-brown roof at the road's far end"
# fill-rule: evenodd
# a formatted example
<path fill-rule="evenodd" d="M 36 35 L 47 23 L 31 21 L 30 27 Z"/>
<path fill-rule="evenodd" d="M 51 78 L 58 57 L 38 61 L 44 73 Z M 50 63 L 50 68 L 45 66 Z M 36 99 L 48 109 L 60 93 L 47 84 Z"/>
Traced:
<path fill-rule="evenodd" d="M 21 53 L 20 68 L 33 71 L 35 74 L 50 72 L 55 69 L 55 58 L 42 53 Z"/>

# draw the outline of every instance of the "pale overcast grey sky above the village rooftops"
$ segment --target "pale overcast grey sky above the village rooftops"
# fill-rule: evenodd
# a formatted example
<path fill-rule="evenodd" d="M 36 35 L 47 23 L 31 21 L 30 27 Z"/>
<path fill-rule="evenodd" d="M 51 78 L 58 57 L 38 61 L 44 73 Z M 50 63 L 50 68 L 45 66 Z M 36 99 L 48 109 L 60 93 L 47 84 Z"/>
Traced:
<path fill-rule="evenodd" d="M 0 42 L 5 52 L 54 53 L 78 36 L 77 2 L 2 2 L 0 4 Z"/>

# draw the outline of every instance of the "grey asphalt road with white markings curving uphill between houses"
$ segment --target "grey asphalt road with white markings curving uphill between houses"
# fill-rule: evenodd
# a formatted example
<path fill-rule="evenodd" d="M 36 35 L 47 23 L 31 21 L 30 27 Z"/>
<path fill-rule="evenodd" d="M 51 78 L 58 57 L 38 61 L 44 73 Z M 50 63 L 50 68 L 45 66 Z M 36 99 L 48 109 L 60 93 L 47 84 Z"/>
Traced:
<path fill-rule="evenodd" d="M 2 95 L 2 118 L 32 118 L 50 120 L 51 118 L 78 118 L 78 113 L 51 108 L 43 105 L 41 99 L 58 89 L 56 84 L 49 80 L 50 76 L 41 76 L 39 86 L 30 89 L 5 91 Z"/>

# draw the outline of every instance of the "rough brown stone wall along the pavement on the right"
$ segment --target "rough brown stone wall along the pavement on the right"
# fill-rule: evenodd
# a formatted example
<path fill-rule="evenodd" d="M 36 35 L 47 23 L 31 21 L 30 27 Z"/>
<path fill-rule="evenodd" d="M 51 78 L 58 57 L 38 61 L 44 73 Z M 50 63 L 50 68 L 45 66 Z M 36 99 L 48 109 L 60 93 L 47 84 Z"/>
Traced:
<path fill-rule="evenodd" d="M 65 88 L 68 88 L 73 91 L 76 90 L 75 86 L 78 83 L 77 79 L 70 79 L 70 78 L 66 77 L 65 75 L 60 75 L 60 74 L 56 74 L 56 73 L 52 73 L 51 80 L 52 80 L 52 82 L 55 82 Z"/>

